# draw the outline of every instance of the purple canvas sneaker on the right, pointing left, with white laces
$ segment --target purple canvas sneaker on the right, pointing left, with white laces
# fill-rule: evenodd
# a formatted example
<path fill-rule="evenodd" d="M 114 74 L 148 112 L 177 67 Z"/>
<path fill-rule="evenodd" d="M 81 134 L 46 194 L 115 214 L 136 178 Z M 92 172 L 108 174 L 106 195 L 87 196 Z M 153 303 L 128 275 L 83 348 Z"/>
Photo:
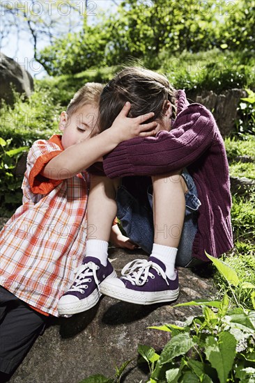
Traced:
<path fill-rule="evenodd" d="M 165 274 L 165 265 L 157 258 L 136 259 L 122 269 L 122 276 L 107 278 L 100 286 L 102 294 L 135 304 L 171 302 L 179 294 L 178 273 L 175 279 Z"/>

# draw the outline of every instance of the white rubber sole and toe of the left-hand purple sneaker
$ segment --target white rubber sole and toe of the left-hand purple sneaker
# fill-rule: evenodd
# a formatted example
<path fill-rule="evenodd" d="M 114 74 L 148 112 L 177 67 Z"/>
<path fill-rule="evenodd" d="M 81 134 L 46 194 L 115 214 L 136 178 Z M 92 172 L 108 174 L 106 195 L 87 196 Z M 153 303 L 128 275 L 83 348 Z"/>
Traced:
<path fill-rule="evenodd" d="M 107 278 L 116 278 L 117 274 L 115 271 L 113 271 Z M 101 283 L 102 284 L 102 283 Z M 100 284 L 100 290 L 101 290 L 101 284 Z M 89 297 L 86 297 L 84 299 L 76 300 L 75 302 L 64 302 L 65 296 L 61 297 L 58 302 L 58 311 L 59 315 L 74 315 L 77 313 L 82 313 L 83 311 L 88 311 L 90 308 L 95 306 L 102 293 L 98 290 L 98 288 L 95 288 L 95 290 L 89 295 Z M 62 302 L 61 302 L 62 300 Z"/>

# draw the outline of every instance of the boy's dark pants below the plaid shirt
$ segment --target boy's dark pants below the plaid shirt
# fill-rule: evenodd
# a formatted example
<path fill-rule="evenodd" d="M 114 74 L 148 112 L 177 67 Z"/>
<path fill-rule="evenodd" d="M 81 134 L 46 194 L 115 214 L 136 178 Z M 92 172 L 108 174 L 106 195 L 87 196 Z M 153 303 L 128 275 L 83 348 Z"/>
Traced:
<path fill-rule="evenodd" d="M 0 286 L 0 378 L 10 377 L 45 327 L 47 316 Z"/>

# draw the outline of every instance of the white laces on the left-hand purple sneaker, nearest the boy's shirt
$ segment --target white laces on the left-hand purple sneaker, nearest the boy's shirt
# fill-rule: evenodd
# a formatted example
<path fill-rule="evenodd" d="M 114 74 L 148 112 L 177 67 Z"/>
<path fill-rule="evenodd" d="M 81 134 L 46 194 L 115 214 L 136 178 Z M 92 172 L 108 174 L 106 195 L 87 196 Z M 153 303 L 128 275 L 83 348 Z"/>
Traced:
<path fill-rule="evenodd" d="M 95 284 L 99 288 L 99 282 L 98 277 L 96 274 L 96 271 L 99 269 L 97 265 L 93 262 L 85 263 L 84 265 L 81 265 L 75 269 L 75 281 L 72 283 L 71 288 L 69 291 L 79 291 L 84 293 L 84 290 L 88 288 L 87 283 L 90 283 L 92 281 L 91 276 L 95 280 Z"/>

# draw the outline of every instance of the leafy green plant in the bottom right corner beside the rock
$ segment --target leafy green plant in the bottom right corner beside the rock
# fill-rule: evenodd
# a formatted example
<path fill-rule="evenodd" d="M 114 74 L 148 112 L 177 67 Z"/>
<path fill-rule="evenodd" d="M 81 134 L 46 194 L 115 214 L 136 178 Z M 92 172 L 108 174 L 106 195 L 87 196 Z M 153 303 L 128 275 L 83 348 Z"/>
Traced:
<path fill-rule="evenodd" d="M 222 260 L 208 256 L 224 276 L 235 299 L 232 308 L 228 295 L 222 302 L 197 300 L 176 306 L 202 306 L 203 315 L 188 318 L 183 327 L 150 327 L 171 332 L 171 340 L 157 354 L 153 347 L 139 345 L 138 352 L 150 368 L 150 383 L 167 382 L 242 382 L 255 380 L 255 311 L 247 311 L 238 302 L 233 288 L 240 283 L 237 274 Z M 255 286 L 252 290 L 255 309 Z"/>

